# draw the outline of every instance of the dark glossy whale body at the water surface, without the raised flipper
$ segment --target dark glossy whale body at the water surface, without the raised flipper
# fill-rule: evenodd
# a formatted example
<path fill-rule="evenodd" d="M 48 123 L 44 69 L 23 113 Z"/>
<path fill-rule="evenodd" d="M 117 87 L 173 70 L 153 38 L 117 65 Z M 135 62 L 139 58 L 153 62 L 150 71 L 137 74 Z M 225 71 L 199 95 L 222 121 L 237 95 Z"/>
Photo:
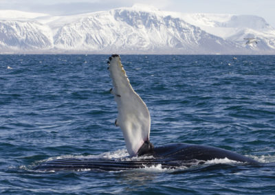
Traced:
<path fill-rule="evenodd" d="M 212 146 L 201 146 L 195 144 L 166 144 L 156 147 L 144 154 L 150 158 L 140 160 L 113 160 L 113 159 L 55 159 L 45 161 L 37 165 L 33 170 L 60 171 L 60 170 L 104 170 L 120 171 L 135 168 L 144 168 L 161 164 L 162 168 L 189 167 L 194 163 L 203 164 L 212 159 L 230 159 L 233 161 L 256 164 L 257 161 L 245 157 L 236 152 L 230 152 Z M 143 156 L 144 156 L 143 155 Z"/>

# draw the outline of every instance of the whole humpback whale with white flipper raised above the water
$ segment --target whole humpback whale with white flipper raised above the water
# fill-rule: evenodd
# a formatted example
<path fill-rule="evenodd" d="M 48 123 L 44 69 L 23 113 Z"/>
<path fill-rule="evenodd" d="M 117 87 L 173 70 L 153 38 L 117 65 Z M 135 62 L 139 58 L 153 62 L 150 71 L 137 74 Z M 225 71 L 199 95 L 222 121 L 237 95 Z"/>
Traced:
<path fill-rule="evenodd" d="M 54 159 L 41 163 L 34 170 L 128 170 L 159 164 L 162 165 L 162 168 L 179 168 L 225 158 L 243 163 L 258 163 L 236 152 L 212 146 L 176 143 L 154 147 L 149 139 L 150 113 L 142 98 L 131 87 L 118 54 L 109 57 L 108 69 L 113 83 L 110 92 L 113 94 L 118 108 L 115 126 L 119 126 L 122 130 L 126 150 L 130 157 L 141 158 L 129 160 Z"/>

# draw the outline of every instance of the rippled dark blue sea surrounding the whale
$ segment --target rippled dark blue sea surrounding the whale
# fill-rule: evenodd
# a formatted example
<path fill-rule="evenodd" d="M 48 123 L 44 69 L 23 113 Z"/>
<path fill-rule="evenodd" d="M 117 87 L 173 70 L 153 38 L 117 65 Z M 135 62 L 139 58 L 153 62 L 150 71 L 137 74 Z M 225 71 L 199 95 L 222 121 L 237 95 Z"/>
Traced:
<path fill-rule="evenodd" d="M 127 157 L 109 56 L 1 55 L 1 194 L 275 194 L 275 56 L 120 57 L 155 146 L 215 146 L 260 164 L 35 171 L 50 159 Z"/>

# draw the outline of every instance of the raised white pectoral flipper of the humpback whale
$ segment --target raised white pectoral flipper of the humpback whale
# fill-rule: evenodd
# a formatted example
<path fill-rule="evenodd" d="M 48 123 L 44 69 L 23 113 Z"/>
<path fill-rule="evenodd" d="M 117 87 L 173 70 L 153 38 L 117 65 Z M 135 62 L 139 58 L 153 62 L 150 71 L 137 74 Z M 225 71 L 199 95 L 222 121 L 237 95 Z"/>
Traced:
<path fill-rule="evenodd" d="M 120 56 L 109 58 L 109 71 L 113 82 L 111 93 L 118 104 L 118 118 L 115 125 L 120 126 L 131 156 L 137 155 L 144 142 L 148 143 L 151 119 L 146 104 L 131 87 Z"/>

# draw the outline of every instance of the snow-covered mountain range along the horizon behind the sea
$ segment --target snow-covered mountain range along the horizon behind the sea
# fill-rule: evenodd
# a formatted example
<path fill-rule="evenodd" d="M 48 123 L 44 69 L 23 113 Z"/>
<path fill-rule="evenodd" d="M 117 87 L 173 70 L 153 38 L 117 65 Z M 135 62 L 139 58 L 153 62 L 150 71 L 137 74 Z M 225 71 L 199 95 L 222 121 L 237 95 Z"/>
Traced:
<path fill-rule="evenodd" d="M 254 37 L 258 44 L 245 45 Z M 0 53 L 275 54 L 259 16 L 184 14 L 134 5 L 71 16 L 0 10 Z"/>

